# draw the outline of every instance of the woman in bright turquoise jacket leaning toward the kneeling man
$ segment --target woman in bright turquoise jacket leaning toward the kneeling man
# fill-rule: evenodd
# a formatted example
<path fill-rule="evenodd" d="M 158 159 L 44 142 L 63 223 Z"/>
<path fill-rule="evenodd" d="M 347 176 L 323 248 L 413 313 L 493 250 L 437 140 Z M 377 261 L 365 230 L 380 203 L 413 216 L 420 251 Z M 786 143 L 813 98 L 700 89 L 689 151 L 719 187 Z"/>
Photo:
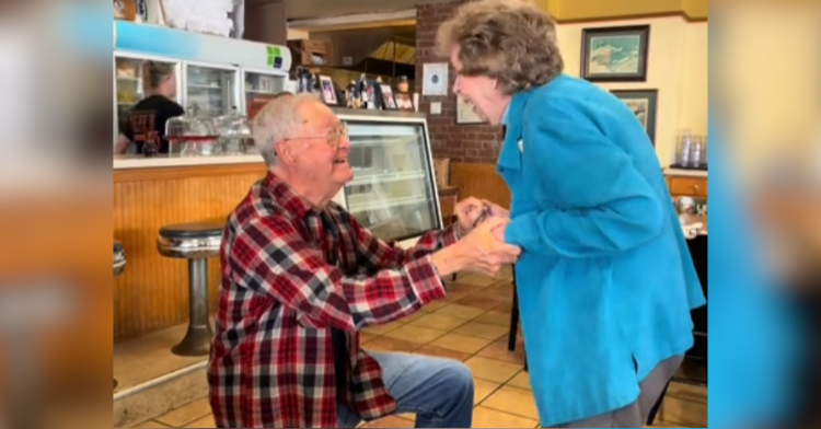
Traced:
<path fill-rule="evenodd" d="M 507 128 L 512 194 L 497 237 L 516 266 L 543 427 L 640 428 L 693 345 L 705 304 L 641 125 L 616 97 L 563 73 L 555 23 L 514 0 L 466 3 L 439 28 L 453 92 Z"/>

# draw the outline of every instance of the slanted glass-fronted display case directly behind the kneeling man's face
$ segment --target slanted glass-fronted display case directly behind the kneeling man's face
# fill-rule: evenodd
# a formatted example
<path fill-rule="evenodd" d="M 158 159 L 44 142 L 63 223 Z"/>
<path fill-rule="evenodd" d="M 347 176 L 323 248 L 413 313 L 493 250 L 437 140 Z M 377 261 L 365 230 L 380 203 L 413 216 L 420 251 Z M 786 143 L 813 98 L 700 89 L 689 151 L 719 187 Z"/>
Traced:
<path fill-rule="evenodd" d="M 350 138 L 354 179 L 336 201 L 385 242 L 413 245 L 442 228 L 424 115 L 335 109 Z"/>

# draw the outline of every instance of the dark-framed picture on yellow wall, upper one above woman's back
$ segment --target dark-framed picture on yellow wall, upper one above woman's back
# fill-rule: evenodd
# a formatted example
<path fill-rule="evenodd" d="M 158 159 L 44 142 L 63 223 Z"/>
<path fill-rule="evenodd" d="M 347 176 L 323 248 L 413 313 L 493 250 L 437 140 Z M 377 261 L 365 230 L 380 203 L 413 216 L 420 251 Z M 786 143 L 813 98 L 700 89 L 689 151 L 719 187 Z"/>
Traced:
<path fill-rule="evenodd" d="M 591 82 L 647 81 L 649 25 L 585 28 L 581 78 Z"/>

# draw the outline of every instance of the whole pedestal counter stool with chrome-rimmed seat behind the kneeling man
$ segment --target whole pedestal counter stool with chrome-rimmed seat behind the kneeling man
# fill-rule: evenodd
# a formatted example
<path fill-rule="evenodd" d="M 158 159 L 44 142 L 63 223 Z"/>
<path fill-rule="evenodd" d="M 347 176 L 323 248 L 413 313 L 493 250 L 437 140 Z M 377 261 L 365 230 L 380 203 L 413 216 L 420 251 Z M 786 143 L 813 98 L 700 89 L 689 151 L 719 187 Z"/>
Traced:
<path fill-rule="evenodd" d="M 211 322 L 208 320 L 208 258 L 219 255 L 222 222 L 192 222 L 160 228 L 157 250 L 170 258 L 188 259 L 188 332 L 171 351 L 177 356 L 210 352 Z"/>

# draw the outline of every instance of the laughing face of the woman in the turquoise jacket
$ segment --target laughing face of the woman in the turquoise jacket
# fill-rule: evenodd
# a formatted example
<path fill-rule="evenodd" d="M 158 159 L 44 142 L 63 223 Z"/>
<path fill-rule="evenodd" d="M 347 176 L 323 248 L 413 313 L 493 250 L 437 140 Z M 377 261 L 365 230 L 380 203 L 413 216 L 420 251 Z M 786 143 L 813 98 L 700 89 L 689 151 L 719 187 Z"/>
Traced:
<path fill-rule="evenodd" d="M 509 104 L 509 97 L 498 88 L 496 79 L 485 76 L 464 76 L 462 61 L 459 59 L 459 47 L 451 50 L 450 62 L 456 71 L 453 81 L 453 93 L 461 95 L 473 108 L 473 112 L 483 120 L 492 125 L 501 124 L 501 117 Z"/>

